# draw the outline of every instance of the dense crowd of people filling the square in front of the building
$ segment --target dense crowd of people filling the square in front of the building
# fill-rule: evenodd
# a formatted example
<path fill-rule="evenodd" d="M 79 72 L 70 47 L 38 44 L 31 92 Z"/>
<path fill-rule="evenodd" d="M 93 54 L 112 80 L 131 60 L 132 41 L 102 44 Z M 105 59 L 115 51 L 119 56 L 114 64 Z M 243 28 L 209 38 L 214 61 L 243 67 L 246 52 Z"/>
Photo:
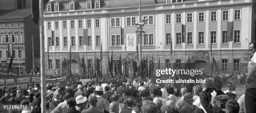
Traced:
<path fill-rule="evenodd" d="M 47 113 L 246 113 L 244 95 L 237 98 L 233 83 L 222 91 L 218 75 L 204 75 L 206 83 L 155 84 L 151 78 L 93 78 L 82 83 L 74 75 L 66 86 L 46 84 Z M 163 76 L 164 77 L 164 76 Z M 183 76 L 184 77 L 184 76 Z M 189 77 L 189 76 L 186 76 Z M 182 78 L 182 75 L 172 77 Z M 0 105 L 28 105 L 0 109 L 0 113 L 41 113 L 40 85 L 28 89 L 0 89 Z"/>

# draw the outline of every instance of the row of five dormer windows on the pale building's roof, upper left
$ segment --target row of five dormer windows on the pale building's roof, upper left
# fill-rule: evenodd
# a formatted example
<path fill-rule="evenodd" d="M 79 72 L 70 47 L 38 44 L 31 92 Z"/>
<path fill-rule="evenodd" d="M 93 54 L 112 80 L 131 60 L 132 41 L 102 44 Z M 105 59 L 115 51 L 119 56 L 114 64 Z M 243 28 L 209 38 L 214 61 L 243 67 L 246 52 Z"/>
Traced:
<path fill-rule="evenodd" d="M 100 8 L 100 1 L 95 1 L 94 2 L 94 8 L 99 9 Z M 69 10 L 75 10 L 75 5 L 74 3 L 69 3 Z M 92 9 L 92 2 L 86 2 L 86 8 L 87 9 Z M 51 4 L 47 5 L 47 12 L 51 12 Z M 54 11 L 59 11 L 59 4 L 54 4 Z"/>

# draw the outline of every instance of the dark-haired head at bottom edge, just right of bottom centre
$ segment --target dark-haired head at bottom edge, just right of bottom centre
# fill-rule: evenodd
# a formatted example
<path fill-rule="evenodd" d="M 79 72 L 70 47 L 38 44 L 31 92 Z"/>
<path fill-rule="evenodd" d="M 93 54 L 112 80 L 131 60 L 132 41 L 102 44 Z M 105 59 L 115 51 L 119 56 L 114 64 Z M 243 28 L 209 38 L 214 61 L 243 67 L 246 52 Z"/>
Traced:
<path fill-rule="evenodd" d="M 157 105 L 155 105 L 153 102 L 147 101 L 143 103 L 141 110 L 142 113 L 156 113 Z"/>

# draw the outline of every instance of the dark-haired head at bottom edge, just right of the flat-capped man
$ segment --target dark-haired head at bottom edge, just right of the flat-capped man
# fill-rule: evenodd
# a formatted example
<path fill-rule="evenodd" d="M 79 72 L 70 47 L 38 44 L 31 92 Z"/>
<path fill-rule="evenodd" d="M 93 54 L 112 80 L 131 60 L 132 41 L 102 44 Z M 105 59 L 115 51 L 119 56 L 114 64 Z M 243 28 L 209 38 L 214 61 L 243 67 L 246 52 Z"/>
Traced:
<path fill-rule="evenodd" d="M 236 100 L 228 100 L 226 103 L 226 113 L 239 113 L 239 104 Z"/>

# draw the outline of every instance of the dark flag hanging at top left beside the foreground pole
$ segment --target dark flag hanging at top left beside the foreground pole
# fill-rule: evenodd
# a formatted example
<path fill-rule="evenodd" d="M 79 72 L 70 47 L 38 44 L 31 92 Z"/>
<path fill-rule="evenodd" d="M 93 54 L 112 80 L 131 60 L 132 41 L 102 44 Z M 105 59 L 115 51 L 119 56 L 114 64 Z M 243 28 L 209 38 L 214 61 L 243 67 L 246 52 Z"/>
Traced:
<path fill-rule="evenodd" d="M 44 4 L 48 3 L 48 1 L 44 0 Z M 31 11 L 33 22 L 37 24 L 39 20 L 39 0 L 31 0 Z"/>

